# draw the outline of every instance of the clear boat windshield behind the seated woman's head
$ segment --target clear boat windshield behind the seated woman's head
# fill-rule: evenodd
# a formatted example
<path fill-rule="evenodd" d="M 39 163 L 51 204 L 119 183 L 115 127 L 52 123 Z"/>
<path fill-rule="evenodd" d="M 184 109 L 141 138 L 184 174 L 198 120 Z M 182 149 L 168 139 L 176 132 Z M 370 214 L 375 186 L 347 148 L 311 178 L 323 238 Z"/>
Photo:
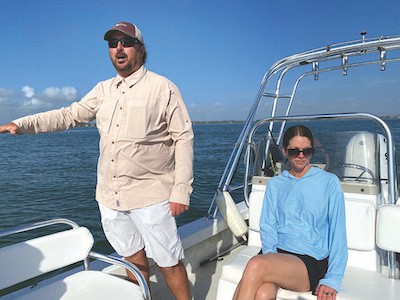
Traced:
<path fill-rule="evenodd" d="M 265 146 L 266 139 L 260 138 L 258 149 Z M 265 151 L 257 151 L 253 175 L 275 176 L 289 168 L 281 148 L 274 145 L 266 159 Z M 386 157 L 385 139 L 369 131 L 316 132 L 314 154 L 311 163 L 336 174 L 341 181 L 367 182 L 377 184 L 387 172 L 380 172 L 379 161 Z"/>

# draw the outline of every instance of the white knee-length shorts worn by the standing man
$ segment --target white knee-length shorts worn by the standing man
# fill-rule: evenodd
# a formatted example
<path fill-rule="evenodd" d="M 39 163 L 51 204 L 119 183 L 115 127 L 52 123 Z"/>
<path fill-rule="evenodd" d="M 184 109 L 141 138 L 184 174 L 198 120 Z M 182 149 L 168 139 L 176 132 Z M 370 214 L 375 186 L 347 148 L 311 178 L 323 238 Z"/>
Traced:
<path fill-rule="evenodd" d="M 99 203 L 103 230 L 115 251 L 124 257 L 142 250 L 160 267 L 172 267 L 184 258 L 169 201 L 128 211 Z"/>

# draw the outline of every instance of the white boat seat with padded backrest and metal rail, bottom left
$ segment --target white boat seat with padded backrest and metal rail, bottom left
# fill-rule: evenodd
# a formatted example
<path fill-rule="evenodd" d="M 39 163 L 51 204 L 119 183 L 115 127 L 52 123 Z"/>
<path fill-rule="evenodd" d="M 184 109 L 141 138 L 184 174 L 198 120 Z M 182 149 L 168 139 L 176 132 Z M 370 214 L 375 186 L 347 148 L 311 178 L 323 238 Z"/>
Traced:
<path fill-rule="evenodd" d="M 0 236 L 4 235 L 0 232 Z M 76 227 L 3 247 L 0 249 L 0 290 L 80 261 L 88 262 L 88 257 L 105 258 L 108 263 L 124 264 L 117 258 L 92 252 L 93 244 L 94 238 L 90 231 L 86 227 Z M 129 267 L 129 263 L 126 266 Z M 77 272 L 67 271 L 69 275 L 61 274 L 35 282 L 33 286 L 6 296 L 12 299 L 149 298 L 149 292 L 143 286 L 102 271 L 82 269 Z M 132 271 L 132 268 L 129 270 Z M 141 280 L 138 279 L 139 282 Z"/>

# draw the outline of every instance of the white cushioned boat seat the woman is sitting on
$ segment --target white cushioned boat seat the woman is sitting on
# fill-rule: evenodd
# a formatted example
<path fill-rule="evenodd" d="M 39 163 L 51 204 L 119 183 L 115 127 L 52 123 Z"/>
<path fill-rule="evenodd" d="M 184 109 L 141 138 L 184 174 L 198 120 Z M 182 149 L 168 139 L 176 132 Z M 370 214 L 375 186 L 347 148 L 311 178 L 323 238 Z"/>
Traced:
<path fill-rule="evenodd" d="M 261 250 L 259 220 L 265 186 L 265 179 L 253 180 L 249 198 L 248 245 L 223 266 L 218 282 L 218 300 L 232 299 L 248 261 Z M 345 194 L 349 260 L 337 299 L 380 299 L 385 289 L 390 293 L 396 291 L 397 295 L 400 295 L 400 281 L 388 279 L 381 273 L 377 254 L 377 251 L 380 251 L 378 247 L 388 251 L 400 251 L 400 235 L 397 234 L 400 231 L 400 206 L 394 205 L 390 209 L 384 209 L 385 206 L 382 206 L 377 217 L 374 197 L 363 195 L 360 199 L 355 195 Z M 391 228 L 390 231 L 388 228 Z M 376 283 L 381 286 L 377 288 Z M 385 295 L 383 298 L 397 299 L 391 295 L 387 298 Z M 311 292 L 295 293 L 280 289 L 277 299 L 304 300 L 316 297 Z"/>

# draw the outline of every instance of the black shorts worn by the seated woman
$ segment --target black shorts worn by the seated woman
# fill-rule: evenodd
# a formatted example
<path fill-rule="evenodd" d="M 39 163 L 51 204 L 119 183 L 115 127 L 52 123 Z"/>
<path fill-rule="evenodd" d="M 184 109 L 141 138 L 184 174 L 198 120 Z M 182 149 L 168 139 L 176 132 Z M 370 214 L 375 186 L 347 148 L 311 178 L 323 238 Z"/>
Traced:
<path fill-rule="evenodd" d="M 310 291 L 314 293 L 318 282 L 325 277 L 325 274 L 328 271 L 328 258 L 316 260 L 314 257 L 308 255 L 296 254 L 281 249 L 277 250 L 278 253 L 295 255 L 304 262 L 308 272 L 308 279 L 310 280 Z"/>

